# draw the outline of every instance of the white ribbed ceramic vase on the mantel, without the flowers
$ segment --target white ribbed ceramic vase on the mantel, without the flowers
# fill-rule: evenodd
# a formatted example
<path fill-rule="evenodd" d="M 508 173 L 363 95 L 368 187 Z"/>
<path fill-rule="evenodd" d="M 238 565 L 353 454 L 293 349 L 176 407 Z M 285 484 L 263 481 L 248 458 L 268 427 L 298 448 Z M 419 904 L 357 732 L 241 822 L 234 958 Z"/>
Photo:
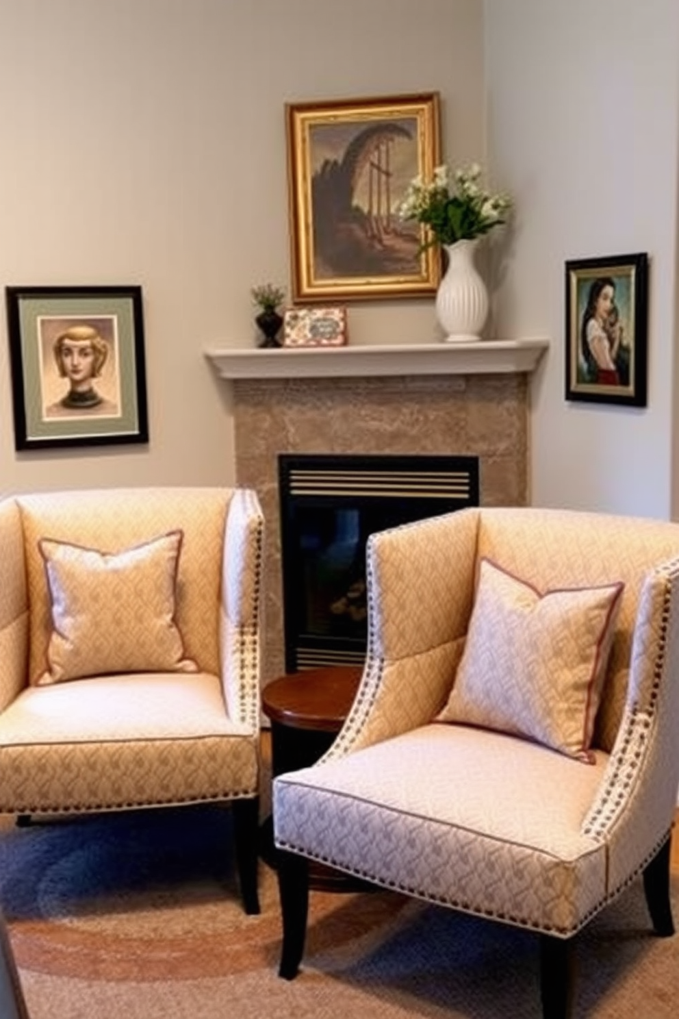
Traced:
<path fill-rule="evenodd" d="M 436 315 L 447 343 L 480 339 L 488 318 L 488 290 L 474 266 L 478 237 L 444 245 L 448 268 L 436 296 Z"/>

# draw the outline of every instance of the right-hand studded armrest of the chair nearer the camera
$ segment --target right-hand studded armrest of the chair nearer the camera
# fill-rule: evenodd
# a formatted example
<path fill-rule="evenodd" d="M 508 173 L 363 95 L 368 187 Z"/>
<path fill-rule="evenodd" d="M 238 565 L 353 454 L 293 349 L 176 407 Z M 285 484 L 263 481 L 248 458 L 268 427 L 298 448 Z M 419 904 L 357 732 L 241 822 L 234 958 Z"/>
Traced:
<path fill-rule="evenodd" d="M 609 845 L 609 891 L 655 854 L 679 788 L 679 559 L 646 577 L 632 641 L 625 711 L 602 788 L 583 823 Z"/>

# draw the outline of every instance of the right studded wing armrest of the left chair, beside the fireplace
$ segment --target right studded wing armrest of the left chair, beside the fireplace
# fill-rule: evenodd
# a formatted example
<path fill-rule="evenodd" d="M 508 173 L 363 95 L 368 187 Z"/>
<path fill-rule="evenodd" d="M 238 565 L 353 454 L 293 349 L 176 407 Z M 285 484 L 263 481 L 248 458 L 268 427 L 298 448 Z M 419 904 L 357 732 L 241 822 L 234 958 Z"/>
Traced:
<path fill-rule="evenodd" d="M 260 729 L 260 641 L 264 518 L 257 494 L 234 490 L 226 516 L 220 644 L 228 714 Z"/>

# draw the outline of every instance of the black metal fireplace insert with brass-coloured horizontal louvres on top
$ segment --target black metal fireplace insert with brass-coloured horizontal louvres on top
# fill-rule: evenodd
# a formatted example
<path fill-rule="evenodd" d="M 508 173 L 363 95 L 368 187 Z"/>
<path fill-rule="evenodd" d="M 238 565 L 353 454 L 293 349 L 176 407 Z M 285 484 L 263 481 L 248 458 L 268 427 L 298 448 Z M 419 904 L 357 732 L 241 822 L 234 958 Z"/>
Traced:
<path fill-rule="evenodd" d="M 279 457 L 286 672 L 360 664 L 367 537 L 476 506 L 478 487 L 476 457 Z"/>

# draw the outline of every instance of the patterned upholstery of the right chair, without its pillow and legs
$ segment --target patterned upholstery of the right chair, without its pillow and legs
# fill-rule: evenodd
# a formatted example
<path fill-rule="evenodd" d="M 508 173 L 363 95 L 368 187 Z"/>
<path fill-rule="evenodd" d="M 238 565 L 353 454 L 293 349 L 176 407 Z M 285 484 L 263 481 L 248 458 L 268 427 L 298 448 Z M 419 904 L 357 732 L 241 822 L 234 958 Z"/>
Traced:
<path fill-rule="evenodd" d="M 480 559 L 540 591 L 624 584 L 591 766 L 437 722 Z M 274 782 L 276 844 L 433 902 L 569 937 L 656 855 L 679 787 L 679 526 L 464 509 L 374 535 L 363 677 L 332 748 Z"/>

